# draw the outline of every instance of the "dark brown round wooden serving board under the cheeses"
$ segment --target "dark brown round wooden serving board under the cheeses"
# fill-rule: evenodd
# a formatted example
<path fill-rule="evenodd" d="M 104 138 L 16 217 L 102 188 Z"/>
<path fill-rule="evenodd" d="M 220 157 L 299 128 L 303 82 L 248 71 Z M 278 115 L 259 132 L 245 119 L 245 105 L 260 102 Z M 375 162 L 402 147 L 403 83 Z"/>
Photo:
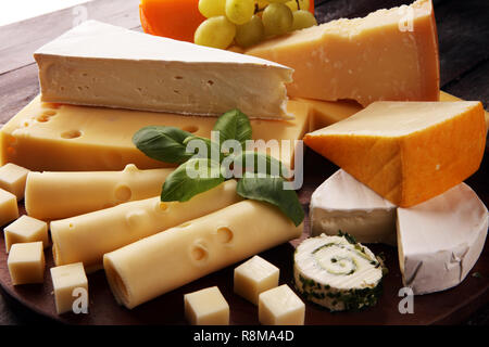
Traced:
<path fill-rule="evenodd" d="M 488 149 L 485 159 L 477 174 L 467 183 L 479 194 L 486 205 L 489 203 Z M 312 192 L 327 177 L 337 170 L 337 167 L 314 152 L 306 150 L 304 156 L 304 185 L 299 196 L 304 209 L 309 210 Z M 24 213 L 23 206 L 21 206 Z M 252 221 L 251 221 L 252 222 Z M 305 220 L 305 232 L 301 239 L 309 235 L 309 220 Z M 266 230 L 264 230 L 266 232 Z M 3 234 L 2 234 L 3 237 Z M 195 292 L 208 286 L 217 285 L 230 307 L 231 324 L 259 324 L 258 308 L 233 293 L 233 271 L 235 266 L 193 281 L 178 290 L 162 295 L 133 310 L 118 306 L 109 288 L 103 270 L 88 275 L 89 285 L 89 313 L 65 313 L 58 316 L 54 308 L 52 282 L 49 268 L 53 267 L 51 249 L 45 250 L 47 270 L 43 284 L 29 284 L 13 286 L 11 284 L 4 242 L 0 240 L 0 285 L 11 296 L 32 310 L 70 324 L 186 324 L 184 317 L 184 294 Z M 292 255 L 294 240 L 278 247 L 260 254 L 263 258 L 280 269 L 280 284 L 292 281 Z M 386 245 L 369 245 L 378 254 L 383 252 L 389 273 L 384 281 L 384 293 L 377 306 L 360 312 L 330 313 L 314 304 L 306 303 L 305 324 L 450 324 L 460 323 L 467 319 L 475 310 L 489 303 L 489 248 L 486 246 L 482 254 L 467 278 L 456 287 L 414 297 L 414 313 L 401 314 L 398 296 L 402 287 L 399 270 L 397 248 Z M 473 277 L 478 272 L 482 278 Z"/>

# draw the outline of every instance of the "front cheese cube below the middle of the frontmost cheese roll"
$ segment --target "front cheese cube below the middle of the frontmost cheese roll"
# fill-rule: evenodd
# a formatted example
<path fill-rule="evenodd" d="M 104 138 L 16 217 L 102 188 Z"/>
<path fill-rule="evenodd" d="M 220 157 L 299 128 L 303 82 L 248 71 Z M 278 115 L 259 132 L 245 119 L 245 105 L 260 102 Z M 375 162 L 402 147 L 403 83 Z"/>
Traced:
<path fill-rule="evenodd" d="M 185 317 L 192 325 L 228 325 L 229 305 L 220 288 L 212 286 L 186 294 Z"/>

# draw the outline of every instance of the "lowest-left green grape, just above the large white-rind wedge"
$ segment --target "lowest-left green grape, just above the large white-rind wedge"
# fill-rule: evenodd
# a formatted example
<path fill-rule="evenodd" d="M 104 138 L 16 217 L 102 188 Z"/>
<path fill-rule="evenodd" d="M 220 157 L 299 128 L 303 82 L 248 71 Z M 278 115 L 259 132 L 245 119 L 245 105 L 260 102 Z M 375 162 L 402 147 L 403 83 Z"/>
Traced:
<path fill-rule="evenodd" d="M 236 26 L 224 15 L 203 21 L 193 35 L 193 42 L 200 46 L 226 49 L 236 36 Z"/>

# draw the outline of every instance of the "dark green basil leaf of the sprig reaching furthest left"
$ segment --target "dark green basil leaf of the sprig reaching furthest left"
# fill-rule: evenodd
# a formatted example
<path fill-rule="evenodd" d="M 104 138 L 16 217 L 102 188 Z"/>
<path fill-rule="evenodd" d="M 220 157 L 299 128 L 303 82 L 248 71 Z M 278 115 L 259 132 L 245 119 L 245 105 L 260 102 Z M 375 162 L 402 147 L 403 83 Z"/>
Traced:
<path fill-rule="evenodd" d="M 193 156 L 187 153 L 185 139 L 192 136 L 175 127 L 150 126 L 133 137 L 133 143 L 150 158 L 165 163 L 184 163 Z"/>

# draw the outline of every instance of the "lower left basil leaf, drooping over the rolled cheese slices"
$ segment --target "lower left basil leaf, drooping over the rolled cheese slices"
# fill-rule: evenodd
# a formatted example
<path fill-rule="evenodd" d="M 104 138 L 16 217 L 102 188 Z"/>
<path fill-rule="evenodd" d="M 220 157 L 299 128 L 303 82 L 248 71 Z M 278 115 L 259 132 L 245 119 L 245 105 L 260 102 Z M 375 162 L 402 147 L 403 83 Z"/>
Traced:
<path fill-rule="evenodd" d="M 190 175 L 190 176 L 189 176 Z M 162 202 L 186 202 L 224 182 L 220 163 L 192 158 L 175 169 L 165 180 Z"/>

